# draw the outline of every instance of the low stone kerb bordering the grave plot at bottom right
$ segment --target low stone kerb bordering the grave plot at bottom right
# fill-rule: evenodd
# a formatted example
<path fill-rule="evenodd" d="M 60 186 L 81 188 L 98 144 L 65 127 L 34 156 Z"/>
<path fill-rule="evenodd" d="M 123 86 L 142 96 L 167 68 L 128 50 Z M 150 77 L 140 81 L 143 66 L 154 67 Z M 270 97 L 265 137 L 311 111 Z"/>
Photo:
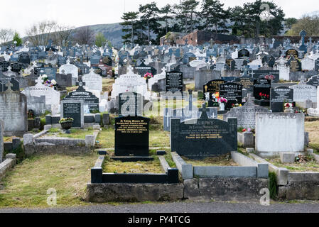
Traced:
<path fill-rule="evenodd" d="M 319 155 L 314 154 L 313 149 L 307 149 L 306 153 L 319 162 Z M 256 154 L 249 155 L 259 163 L 268 164 L 269 172 L 276 174 L 279 199 L 319 199 L 319 172 L 291 172 L 284 167 L 276 167 Z"/>

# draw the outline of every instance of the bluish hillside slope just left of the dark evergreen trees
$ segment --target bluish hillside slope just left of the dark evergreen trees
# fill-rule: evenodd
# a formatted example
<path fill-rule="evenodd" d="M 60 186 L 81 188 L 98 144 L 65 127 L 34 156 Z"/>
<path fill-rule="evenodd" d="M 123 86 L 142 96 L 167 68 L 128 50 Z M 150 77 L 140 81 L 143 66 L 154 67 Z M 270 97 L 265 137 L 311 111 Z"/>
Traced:
<path fill-rule="evenodd" d="M 124 35 L 124 33 L 121 31 L 122 28 L 119 23 L 96 24 L 92 26 L 83 26 L 83 27 L 91 28 L 92 31 L 94 31 L 95 35 L 97 35 L 97 33 L 103 33 L 105 38 L 111 41 L 114 48 L 121 48 L 123 46 L 121 36 Z M 80 27 L 80 28 L 83 28 L 83 27 Z M 80 28 L 75 28 L 75 30 Z"/>

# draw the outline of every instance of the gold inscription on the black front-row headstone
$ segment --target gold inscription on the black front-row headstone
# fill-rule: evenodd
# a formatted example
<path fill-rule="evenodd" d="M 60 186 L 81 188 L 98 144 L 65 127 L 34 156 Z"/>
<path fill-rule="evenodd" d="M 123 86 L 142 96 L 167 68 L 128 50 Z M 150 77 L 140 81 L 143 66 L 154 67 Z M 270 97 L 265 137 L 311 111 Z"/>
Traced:
<path fill-rule="evenodd" d="M 121 120 L 117 122 L 117 131 L 121 133 L 143 133 L 147 131 L 144 120 Z"/>

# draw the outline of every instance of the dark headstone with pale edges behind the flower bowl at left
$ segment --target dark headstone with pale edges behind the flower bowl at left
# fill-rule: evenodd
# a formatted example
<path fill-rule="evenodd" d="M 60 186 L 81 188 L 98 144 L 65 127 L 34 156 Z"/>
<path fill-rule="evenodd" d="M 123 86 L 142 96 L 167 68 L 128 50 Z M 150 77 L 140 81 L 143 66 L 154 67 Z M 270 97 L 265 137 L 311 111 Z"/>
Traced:
<path fill-rule="evenodd" d="M 72 128 L 84 127 L 84 110 L 82 100 L 61 101 L 61 118 L 73 118 Z"/>

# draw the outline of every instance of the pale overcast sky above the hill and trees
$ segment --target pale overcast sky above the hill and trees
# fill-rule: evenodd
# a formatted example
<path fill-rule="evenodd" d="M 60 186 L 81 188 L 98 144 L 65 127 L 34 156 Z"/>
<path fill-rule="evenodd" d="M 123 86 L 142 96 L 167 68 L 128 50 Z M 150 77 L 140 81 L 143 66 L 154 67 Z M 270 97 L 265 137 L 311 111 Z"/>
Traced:
<path fill-rule="evenodd" d="M 178 4 L 180 0 L 153 0 L 159 7 Z M 221 0 L 228 6 L 236 6 L 254 0 Z M 125 11 L 137 11 L 139 4 L 147 0 L 0 0 L 0 28 L 13 28 L 25 35 L 26 28 L 38 21 L 54 20 L 67 26 L 87 26 L 99 23 L 117 23 Z M 318 0 L 274 0 L 286 13 L 286 17 L 301 17 L 318 10 Z"/>

